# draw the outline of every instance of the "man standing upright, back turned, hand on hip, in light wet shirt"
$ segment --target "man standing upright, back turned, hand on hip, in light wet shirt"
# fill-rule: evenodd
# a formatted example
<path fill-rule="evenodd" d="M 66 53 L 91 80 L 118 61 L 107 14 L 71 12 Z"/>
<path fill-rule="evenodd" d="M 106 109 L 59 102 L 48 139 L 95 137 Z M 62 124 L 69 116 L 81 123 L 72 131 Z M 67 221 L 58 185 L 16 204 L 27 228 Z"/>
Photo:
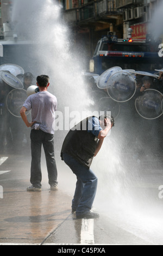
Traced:
<path fill-rule="evenodd" d="M 54 123 L 57 110 L 57 98 L 47 92 L 49 77 L 37 76 L 37 86 L 40 92 L 30 95 L 24 102 L 20 114 L 27 125 L 31 127 L 31 154 L 30 182 L 32 186 L 27 191 L 41 191 L 41 146 L 45 151 L 49 185 L 51 190 L 57 190 L 57 166 L 54 157 Z M 32 109 L 32 122 L 29 123 L 26 111 Z"/>

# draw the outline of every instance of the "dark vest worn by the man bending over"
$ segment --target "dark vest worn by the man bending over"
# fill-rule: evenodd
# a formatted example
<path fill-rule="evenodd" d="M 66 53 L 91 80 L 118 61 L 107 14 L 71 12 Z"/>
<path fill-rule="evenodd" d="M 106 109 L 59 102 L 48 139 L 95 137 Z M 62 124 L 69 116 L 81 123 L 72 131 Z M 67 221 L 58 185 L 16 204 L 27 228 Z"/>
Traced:
<path fill-rule="evenodd" d="M 88 119 L 82 120 L 67 133 L 61 149 L 61 159 L 62 153 L 67 153 L 85 167 L 90 168 L 98 138 L 87 131 Z"/>

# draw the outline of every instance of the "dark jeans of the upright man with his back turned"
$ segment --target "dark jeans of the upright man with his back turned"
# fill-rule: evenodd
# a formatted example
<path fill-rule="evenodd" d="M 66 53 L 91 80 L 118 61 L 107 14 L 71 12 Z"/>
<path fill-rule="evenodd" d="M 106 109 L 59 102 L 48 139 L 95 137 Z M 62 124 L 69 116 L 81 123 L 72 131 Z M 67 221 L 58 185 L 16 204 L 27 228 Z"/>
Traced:
<path fill-rule="evenodd" d="M 58 184 L 57 166 L 54 157 L 54 136 L 42 130 L 31 130 L 31 154 L 30 182 L 35 187 L 41 187 L 41 147 L 45 151 L 49 185 Z"/>

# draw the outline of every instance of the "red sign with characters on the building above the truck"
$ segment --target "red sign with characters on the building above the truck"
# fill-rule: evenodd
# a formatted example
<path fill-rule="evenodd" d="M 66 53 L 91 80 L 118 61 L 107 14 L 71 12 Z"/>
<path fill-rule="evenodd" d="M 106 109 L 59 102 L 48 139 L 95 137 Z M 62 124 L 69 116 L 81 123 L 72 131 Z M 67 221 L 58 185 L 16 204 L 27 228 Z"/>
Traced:
<path fill-rule="evenodd" d="M 133 39 L 146 39 L 147 23 L 131 26 L 131 29 L 133 29 L 133 32 L 132 32 Z"/>

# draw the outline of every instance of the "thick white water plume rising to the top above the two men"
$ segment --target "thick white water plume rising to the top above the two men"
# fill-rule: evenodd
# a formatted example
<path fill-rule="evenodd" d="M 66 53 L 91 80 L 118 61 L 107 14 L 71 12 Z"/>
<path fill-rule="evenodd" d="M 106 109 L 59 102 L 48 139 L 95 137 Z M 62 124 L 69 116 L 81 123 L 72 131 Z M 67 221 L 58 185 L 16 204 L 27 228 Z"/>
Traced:
<path fill-rule="evenodd" d="M 61 5 L 52 0 L 16 0 L 11 20 L 18 36 L 36 46 L 33 58 L 37 70 L 51 78 L 60 109 L 82 111 L 90 105 L 82 75 L 84 60 L 72 51 L 74 40 L 62 18 Z"/>

